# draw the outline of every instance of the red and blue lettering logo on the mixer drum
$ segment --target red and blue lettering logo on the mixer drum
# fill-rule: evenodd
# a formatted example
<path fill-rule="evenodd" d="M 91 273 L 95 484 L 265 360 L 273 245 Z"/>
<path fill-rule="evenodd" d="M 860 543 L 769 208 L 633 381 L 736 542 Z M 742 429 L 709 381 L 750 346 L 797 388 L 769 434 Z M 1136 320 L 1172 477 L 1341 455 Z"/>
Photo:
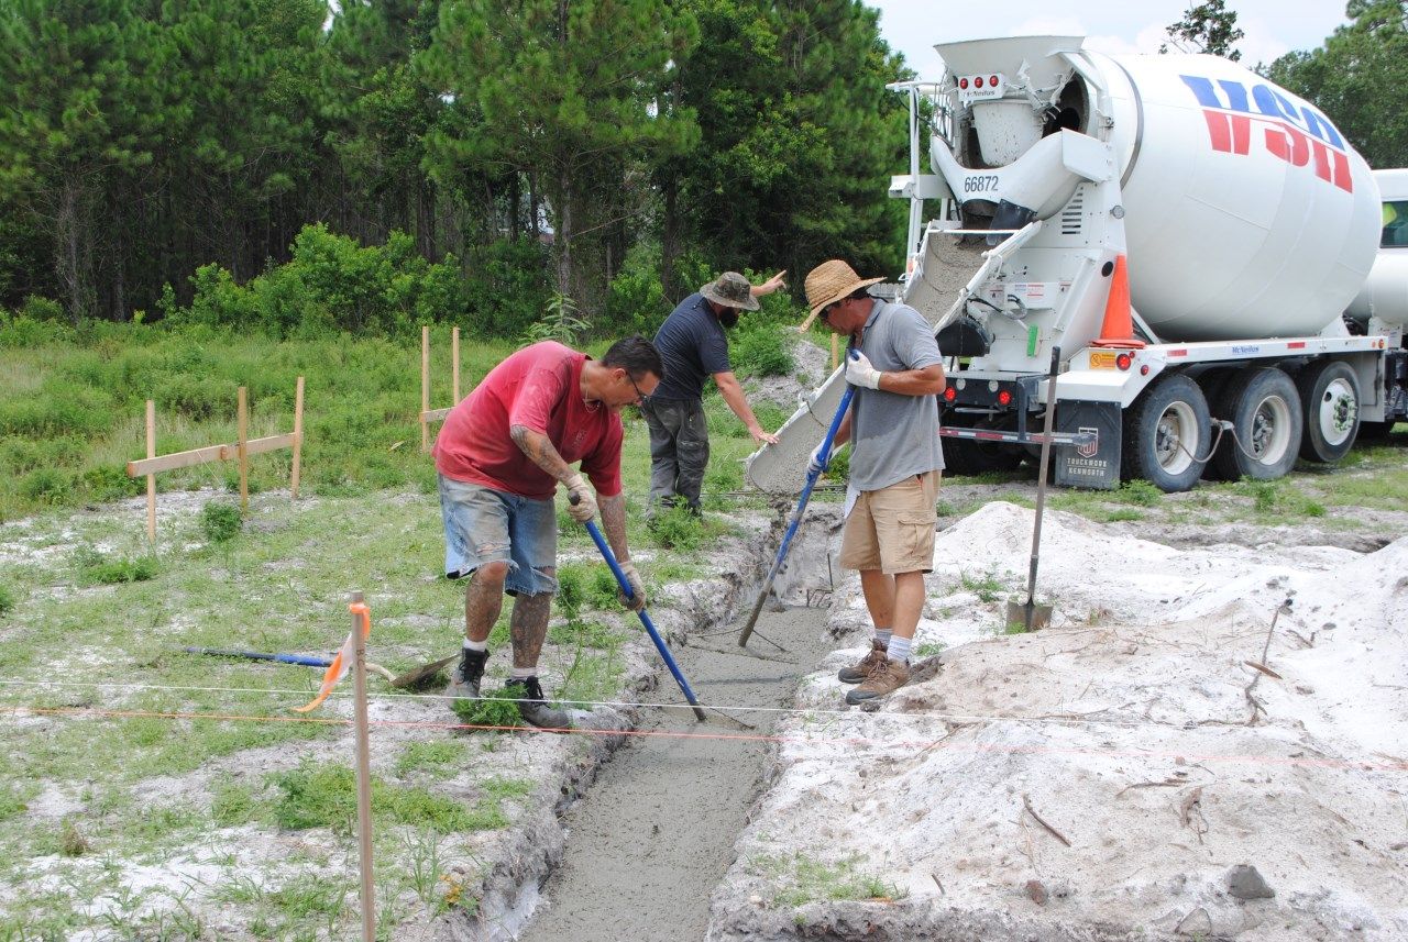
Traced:
<path fill-rule="evenodd" d="M 1315 176 L 1346 193 L 1354 191 L 1349 153 L 1329 118 L 1266 84 L 1247 89 L 1232 79 L 1215 83 L 1205 76 L 1180 75 L 1193 90 L 1208 122 L 1212 149 L 1222 153 L 1252 152 L 1252 122 L 1266 125 L 1266 149 L 1295 167 L 1312 166 Z"/>

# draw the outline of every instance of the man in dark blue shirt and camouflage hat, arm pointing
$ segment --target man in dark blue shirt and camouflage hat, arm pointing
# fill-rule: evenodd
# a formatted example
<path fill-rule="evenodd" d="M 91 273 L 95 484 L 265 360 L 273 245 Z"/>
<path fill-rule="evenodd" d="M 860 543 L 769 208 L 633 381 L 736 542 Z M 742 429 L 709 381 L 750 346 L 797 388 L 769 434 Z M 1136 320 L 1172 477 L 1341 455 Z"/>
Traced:
<path fill-rule="evenodd" d="M 648 516 L 662 506 L 674 506 L 679 499 L 690 512 L 700 513 L 700 488 L 708 465 L 704 384 L 710 377 L 728 408 L 748 426 L 753 441 L 777 444 L 777 436 L 765 432 L 748 406 L 748 396 L 728 360 L 724 330 L 738 323 L 739 311 L 758 311 L 759 297 L 786 287 L 784 274 L 779 271 L 763 284 L 752 285 L 736 271 L 725 271 L 684 298 L 655 335 L 655 347 L 665 361 L 665 380 L 641 406 L 650 427 Z"/>

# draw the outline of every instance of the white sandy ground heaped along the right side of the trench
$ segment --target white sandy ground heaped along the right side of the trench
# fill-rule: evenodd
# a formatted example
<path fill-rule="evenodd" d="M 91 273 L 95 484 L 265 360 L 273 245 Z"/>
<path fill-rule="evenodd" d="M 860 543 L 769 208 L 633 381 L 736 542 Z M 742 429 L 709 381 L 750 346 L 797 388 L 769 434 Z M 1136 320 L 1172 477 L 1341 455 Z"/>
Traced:
<path fill-rule="evenodd" d="M 1408 938 L 1408 537 L 1186 551 L 1048 512 L 1052 627 L 995 635 L 1031 534 L 1010 503 L 939 534 L 917 643 L 948 647 L 879 711 L 839 706 L 859 633 L 804 680 L 708 938 Z M 831 627 L 865 624 L 852 576 Z M 788 855 L 891 898 L 793 908 Z"/>

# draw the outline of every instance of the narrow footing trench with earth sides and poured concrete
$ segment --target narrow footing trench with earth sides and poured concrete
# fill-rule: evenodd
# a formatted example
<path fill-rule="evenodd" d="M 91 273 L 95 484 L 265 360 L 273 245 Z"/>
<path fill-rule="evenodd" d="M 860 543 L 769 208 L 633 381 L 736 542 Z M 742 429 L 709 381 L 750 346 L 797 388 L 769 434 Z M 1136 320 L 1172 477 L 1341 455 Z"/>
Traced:
<path fill-rule="evenodd" d="M 558 830 L 491 877 L 477 912 L 442 918 L 438 939 L 618 942 L 704 939 L 710 903 L 734 845 L 766 787 L 779 718 L 797 682 L 832 651 L 828 557 L 839 520 L 814 509 L 788 553 L 746 648 L 738 633 L 773 561 L 779 533 L 758 533 L 711 560 L 717 578 L 672 586 L 652 603 L 656 624 L 707 720 L 698 721 L 642 633 L 652 671 L 620 737 L 598 737 L 569 770 Z M 777 527 L 773 527 L 774 530 Z M 539 822 L 541 824 L 541 822 Z"/>

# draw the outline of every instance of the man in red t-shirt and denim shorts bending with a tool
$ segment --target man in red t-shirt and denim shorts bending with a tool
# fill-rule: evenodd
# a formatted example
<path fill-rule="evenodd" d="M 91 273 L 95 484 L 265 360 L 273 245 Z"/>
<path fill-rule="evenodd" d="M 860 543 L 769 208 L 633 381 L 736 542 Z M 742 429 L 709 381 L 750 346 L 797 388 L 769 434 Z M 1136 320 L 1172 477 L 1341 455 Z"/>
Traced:
<path fill-rule="evenodd" d="M 559 484 L 567 489 L 567 513 L 579 523 L 600 509 L 607 543 L 631 583 L 631 605 L 642 609 L 645 588 L 625 541 L 620 413 L 650 395 L 663 377 L 660 354 L 645 337 L 618 340 L 600 361 L 546 340 L 490 370 L 451 409 L 435 440 L 445 575 L 470 579 L 463 654 L 448 696 L 479 696 L 489 631 L 507 592 L 514 596 L 514 666 L 505 690 L 528 723 L 570 727 L 538 682 L 538 655 L 558 591 L 553 492 Z M 572 468 L 577 461 L 582 471 Z"/>

